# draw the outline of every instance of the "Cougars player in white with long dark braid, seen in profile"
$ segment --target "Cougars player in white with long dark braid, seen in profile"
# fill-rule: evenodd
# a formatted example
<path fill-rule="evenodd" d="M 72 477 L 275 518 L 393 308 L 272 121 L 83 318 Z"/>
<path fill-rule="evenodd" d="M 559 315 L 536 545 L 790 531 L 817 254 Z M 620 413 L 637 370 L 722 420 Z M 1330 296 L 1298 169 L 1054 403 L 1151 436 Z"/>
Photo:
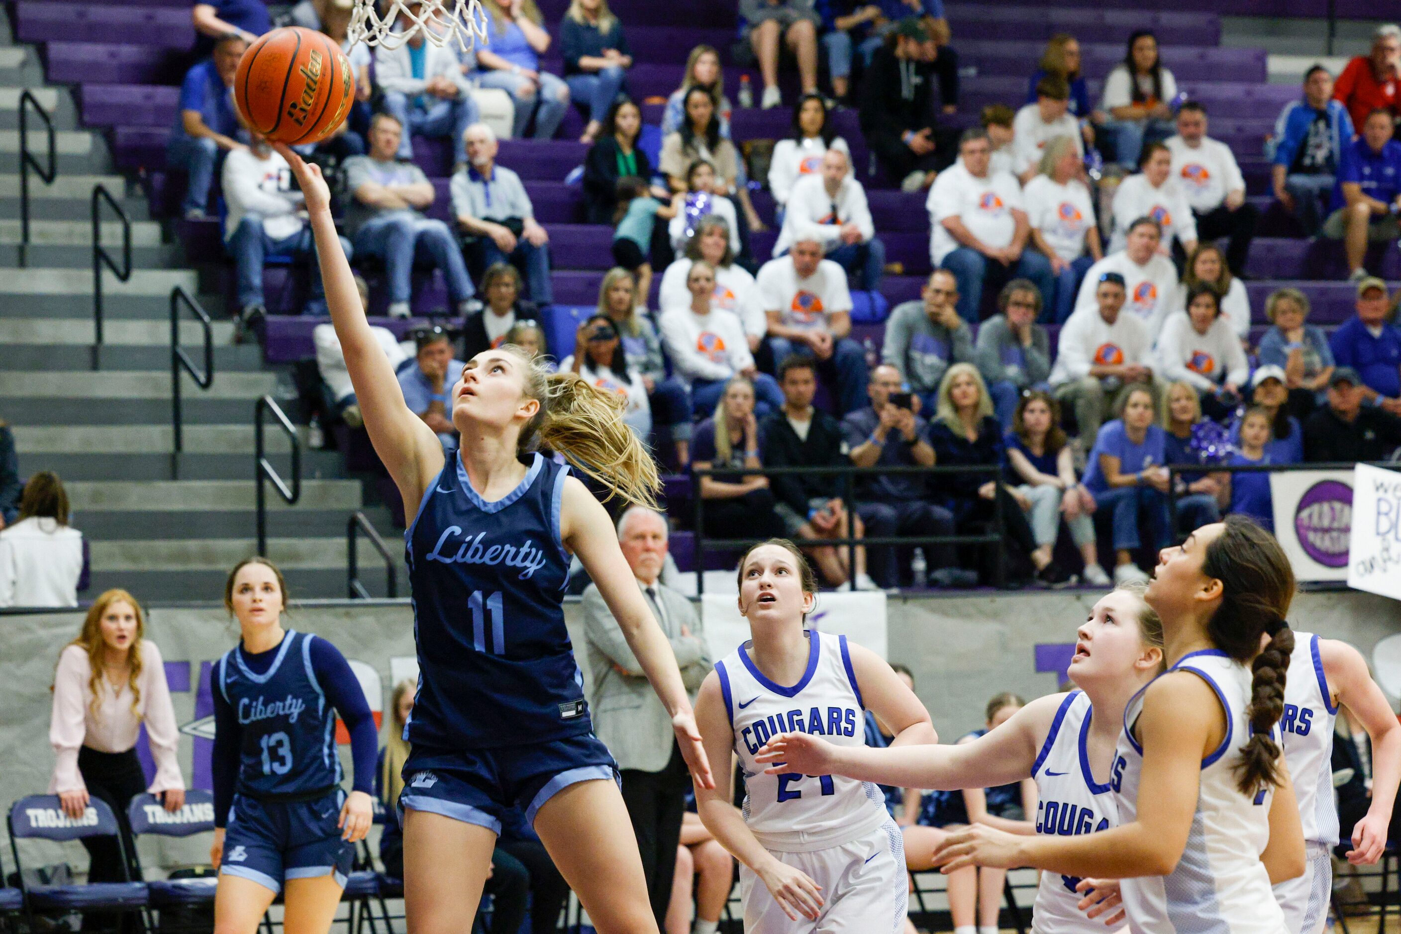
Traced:
<path fill-rule="evenodd" d="M 1033 865 L 1121 879 L 1135 934 L 1281 934 L 1269 886 L 1304 871 L 1275 739 L 1293 594 L 1289 559 L 1252 520 L 1230 515 L 1163 549 L 1145 599 L 1163 620 L 1171 667 L 1125 711 L 1110 773 L 1118 826 L 1034 837 L 972 826 L 936 851 L 944 870 Z"/>

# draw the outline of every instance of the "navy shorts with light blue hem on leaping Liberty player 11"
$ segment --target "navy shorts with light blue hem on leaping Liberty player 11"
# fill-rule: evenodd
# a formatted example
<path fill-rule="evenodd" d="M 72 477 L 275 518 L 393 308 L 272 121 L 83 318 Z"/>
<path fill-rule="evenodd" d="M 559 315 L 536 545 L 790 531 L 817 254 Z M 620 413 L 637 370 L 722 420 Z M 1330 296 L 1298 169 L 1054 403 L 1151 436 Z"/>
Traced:
<path fill-rule="evenodd" d="M 427 811 L 502 832 L 513 805 L 535 825 L 535 814 L 572 784 L 612 779 L 618 766 L 591 732 L 549 742 L 495 749 L 436 749 L 415 745 L 403 763 L 399 808 Z"/>

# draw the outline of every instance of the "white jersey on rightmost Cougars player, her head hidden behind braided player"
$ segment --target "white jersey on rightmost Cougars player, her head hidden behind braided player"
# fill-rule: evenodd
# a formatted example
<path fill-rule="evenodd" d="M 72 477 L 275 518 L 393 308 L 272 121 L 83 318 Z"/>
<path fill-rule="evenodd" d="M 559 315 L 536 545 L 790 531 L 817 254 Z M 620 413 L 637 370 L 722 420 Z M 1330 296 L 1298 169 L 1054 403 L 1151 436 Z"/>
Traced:
<path fill-rule="evenodd" d="M 1332 793 L 1332 728 L 1338 707 L 1323 674 L 1318 637 L 1295 633 L 1285 679 L 1285 716 L 1279 728 L 1285 737 L 1285 762 L 1295 781 L 1295 798 L 1303 821 L 1304 840 L 1338 844 L 1338 805 Z"/>

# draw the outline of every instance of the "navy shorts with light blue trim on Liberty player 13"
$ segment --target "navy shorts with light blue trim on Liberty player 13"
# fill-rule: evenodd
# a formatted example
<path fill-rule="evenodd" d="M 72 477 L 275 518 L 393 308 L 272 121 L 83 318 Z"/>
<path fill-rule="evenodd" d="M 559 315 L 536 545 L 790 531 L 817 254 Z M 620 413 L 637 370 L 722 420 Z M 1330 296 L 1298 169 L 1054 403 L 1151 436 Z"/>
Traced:
<path fill-rule="evenodd" d="M 261 801 L 234 795 L 219 871 L 282 891 L 284 879 L 333 875 L 342 886 L 354 844 L 340 839 L 340 788 L 312 801 Z"/>

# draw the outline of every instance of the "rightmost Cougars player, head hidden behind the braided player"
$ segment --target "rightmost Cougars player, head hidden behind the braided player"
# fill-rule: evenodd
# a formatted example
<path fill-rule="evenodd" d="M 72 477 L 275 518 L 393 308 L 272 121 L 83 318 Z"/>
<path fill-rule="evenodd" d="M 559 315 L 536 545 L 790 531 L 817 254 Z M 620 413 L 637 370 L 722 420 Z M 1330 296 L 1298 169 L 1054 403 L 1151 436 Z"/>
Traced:
<path fill-rule="evenodd" d="M 1372 805 L 1352 829 L 1353 864 L 1376 863 L 1387 843 L 1391 805 L 1401 780 L 1401 724 L 1356 648 L 1313 633 L 1295 633 L 1285 682 L 1285 760 L 1299 800 L 1307 867 L 1275 886 L 1289 934 L 1320 934 L 1332 893 L 1331 850 L 1338 844 L 1338 805 L 1332 790 L 1332 737 L 1346 707 L 1372 738 Z"/>

